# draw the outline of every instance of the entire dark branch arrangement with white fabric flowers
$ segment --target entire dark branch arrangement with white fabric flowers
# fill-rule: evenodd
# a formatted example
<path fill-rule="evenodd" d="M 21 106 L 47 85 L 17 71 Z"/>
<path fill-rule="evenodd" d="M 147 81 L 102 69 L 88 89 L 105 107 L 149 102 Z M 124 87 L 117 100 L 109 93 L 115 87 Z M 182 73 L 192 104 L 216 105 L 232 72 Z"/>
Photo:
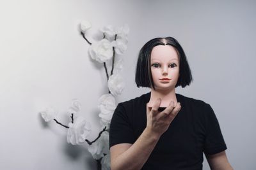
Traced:
<path fill-rule="evenodd" d="M 87 21 L 83 21 L 80 24 L 80 31 L 83 34 L 84 39 L 85 33 L 92 27 L 92 24 Z M 104 35 L 100 41 L 88 43 L 91 45 L 89 48 L 90 57 L 100 63 L 105 63 L 113 60 L 115 54 L 123 55 L 127 50 L 127 35 L 129 33 L 128 25 L 122 27 L 114 27 L 113 25 L 107 25 L 100 29 Z M 102 129 L 106 127 L 106 131 L 100 134 L 100 138 L 97 139 L 92 145 L 88 146 L 88 151 L 92 154 L 93 159 L 101 159 L 102 169 L 110 169 L 110 156 L 109 156 L 109 125 L 111 118 L 116 108 L 115 97 L 120 95 L 124 89 L 124 79 L 120 76 L 120 71 L 123 69 L 122 58 L 115 58 L 114 72 L 108 77 L 108 89 L 110 94 L 104 94 L 99 99 L 99 117 Z M 104 64 L 105 65 L 105 64 Z M 106 66 L 106 65 L 105 65 Z M 81 110 L 81 103 L 77 99 L 73 99 L 71 106 L 68 108 L 68 113 L 72 114 L 72 120 L 68 123 L 67 131 L 67 142 L 72 145 L 81 145 L 84 143 L 86 138 L 92 132 L 92 127 L 89 122 L 83 117 L 78 116 Z M 46 122 L 50 122 L 55 119 L 58 112 L 54 108 L 47 108 L 40 112 L 42 118 Z M 57 122 L 60 124 L 59 122 Z M 62 125 L 62 124 L 61 124 Z"/>

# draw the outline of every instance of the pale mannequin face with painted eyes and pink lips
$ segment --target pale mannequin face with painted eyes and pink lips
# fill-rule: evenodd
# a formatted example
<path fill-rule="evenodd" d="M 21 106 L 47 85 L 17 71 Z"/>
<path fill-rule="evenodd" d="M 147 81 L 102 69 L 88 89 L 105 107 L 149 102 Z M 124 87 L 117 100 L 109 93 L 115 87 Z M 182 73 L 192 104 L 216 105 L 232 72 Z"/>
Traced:
<path fill-rule="evenodd" d="M 154 46 L 150 57 L 150 67 L 156 90 L 175 89 L 179 79 L 179 56 L 173 46 Z M 163 80 L 163 78 L 168 78 L 168 80 Z"/>

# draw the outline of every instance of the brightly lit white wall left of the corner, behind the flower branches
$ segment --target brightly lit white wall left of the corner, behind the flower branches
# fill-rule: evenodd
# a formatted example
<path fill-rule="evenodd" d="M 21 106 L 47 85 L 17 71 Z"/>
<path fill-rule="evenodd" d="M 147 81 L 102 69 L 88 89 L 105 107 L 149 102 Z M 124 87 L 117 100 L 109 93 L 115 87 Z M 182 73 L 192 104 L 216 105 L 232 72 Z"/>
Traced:
<path fill-rule="evenodd" d="M 108 93 L 106 76 L 88 57 L 77 24 L 91 21 L 89 34 L 96 34 L 104 25 L 127 23 L 134 41 L 140 34 L 140 6 L 134 2 L 0 2 L 0 169 L 96 169 L 90 153 L 67 145 L 66 129 L 54 122 L 45 127 L 38 111 L 51 104 L 67 124 L 65 112 L 78 98 L 95 139 L 101 130 L 98 99 Z M 132 41 L 129 48 L 126 59 L 132 57 Z"/>

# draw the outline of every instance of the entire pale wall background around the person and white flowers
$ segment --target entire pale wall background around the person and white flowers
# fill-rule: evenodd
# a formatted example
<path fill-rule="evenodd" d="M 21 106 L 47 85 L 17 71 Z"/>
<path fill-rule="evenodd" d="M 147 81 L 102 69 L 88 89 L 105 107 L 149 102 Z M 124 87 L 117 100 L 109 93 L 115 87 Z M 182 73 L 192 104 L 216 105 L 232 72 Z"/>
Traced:
<path fill-rule="evenodd" d="M 0 169 L 96 169 L 86 145 L 65 141 L 66 130 L 45 125 L 50 104 L 68 122 L 72 98 L 97 136 L 97 101 L 108 92 L 100 64 L 88 57 L 77 24 L 127 23 L 126 87 L 118 101 L 140 96 L 134 73 L 138 51 L 151 38 L 173 36 L 183 46 L 194 81 L 185 96 L 211 104 L 234 169 L 254 169 L 255 1 L 0 1 Z M 92 39 L 91 39 L 92 40 Z M 100 69 L 99 69 L 100 68 Z M 103 85 L 103 86 L 102 86 Z M 204 162 L 204 169 L 209 169 Z"/>

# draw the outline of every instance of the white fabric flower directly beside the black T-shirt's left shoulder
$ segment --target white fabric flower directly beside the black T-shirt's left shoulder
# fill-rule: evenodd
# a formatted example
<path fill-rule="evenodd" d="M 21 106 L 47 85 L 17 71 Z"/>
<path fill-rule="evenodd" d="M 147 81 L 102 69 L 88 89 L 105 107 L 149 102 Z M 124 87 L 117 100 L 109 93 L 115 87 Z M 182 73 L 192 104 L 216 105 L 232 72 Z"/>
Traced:
<path fill-rule="evenodd" d="M 111 94 L 104 94 L 99 99 L 99 117 L 102 122 L 109 123 L 116 109 L 115 97 Z"/>

